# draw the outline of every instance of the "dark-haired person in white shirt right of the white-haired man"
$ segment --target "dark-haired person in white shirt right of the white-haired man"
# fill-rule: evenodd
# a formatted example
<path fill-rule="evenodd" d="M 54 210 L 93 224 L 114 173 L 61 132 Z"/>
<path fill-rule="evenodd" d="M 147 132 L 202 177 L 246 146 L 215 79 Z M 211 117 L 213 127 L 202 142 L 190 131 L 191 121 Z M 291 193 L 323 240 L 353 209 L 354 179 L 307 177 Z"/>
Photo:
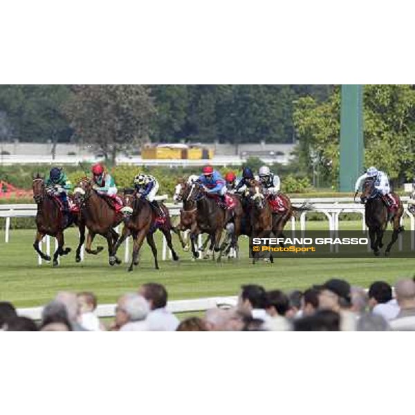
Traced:
<path fill-rule="evenodd" d="M 142 284 L 139 293 L 147 300 L 150 312 L 147 315 L 149 331 L 176 331 L 178 318 L 167 310 L 167 291 L 161 284 Z"/>

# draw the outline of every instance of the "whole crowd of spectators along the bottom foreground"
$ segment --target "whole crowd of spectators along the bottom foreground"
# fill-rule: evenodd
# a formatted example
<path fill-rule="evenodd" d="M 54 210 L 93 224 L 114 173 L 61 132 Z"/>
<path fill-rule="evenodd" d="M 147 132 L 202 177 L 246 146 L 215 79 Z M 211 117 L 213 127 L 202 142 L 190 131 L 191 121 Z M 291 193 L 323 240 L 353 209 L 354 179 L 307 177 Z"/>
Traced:
<path fill-rule="evenodd" d="M 1 331 L 413 331 L 415 277 L 394 287 L 376 281 L 365 290 L 344 279 L 329 279 L 305 291 L 241 287 L 236 306 L 210 308 L 182 321 L 167 308 L 167 291 L 143 284 L 122 295 L 112 322 L 100 321 L 93 293 L 60 292 L 35 322 L 0 302 Z"/>

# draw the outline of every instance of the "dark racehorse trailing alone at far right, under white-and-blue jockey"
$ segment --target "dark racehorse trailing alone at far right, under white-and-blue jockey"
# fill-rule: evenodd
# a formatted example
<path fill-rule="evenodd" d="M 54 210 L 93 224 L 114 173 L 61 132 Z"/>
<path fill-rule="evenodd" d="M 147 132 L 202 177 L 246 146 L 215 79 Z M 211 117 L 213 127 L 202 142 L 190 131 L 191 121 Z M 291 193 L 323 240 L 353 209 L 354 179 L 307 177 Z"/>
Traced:
<path fill-rule="evenodd" d="M 363 183 L 360 201 L 365 204 L 365 220 L 367 228 L 369 229 L 370 247 L 376 257 L 380 255 L 379 248 L 383 246 L 382 238 L 388 221 L 391 222 L 393 232 L 391 241 L 385 250 L 385 256 L 389 256 L 392 246 L 396 242 L 396 239 L 398 239 L 398 234 L 404 230 L 403 226 L 400 226 L 400 218 L 403 215 L 402 202 L 397 194 L 393 193 L 392 195 L 398 203 L 398 210 L 389 219 L 387 205 L 382 200 L 382 195 L 376 190 L 374 179 L 367 178 L 365 183 Z"/>

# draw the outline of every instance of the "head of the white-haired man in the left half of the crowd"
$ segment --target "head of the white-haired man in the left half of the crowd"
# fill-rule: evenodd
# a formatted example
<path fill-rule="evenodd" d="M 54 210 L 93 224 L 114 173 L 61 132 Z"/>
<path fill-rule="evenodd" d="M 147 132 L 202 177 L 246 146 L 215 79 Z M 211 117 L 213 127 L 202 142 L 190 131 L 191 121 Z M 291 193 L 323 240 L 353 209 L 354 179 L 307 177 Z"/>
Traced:
<path fill-rule="evenodd" d="M 145 320 L 150 308 L 142 295 L 128 293 L 118 299 L 116 306 L 116 326 L 122 327 L 128 322 Z"/>

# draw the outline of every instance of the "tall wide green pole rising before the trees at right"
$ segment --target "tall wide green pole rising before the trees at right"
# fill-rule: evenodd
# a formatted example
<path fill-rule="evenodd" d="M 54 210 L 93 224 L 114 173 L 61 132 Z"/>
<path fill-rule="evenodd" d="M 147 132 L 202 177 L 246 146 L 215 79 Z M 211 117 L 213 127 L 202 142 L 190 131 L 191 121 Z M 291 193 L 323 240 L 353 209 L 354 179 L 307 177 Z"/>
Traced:
<path fill-rule="evenodd" d="M 363 86 L 342 85 L 340 109 L 340 192 L 353 192 L 363 173 Z"/>

